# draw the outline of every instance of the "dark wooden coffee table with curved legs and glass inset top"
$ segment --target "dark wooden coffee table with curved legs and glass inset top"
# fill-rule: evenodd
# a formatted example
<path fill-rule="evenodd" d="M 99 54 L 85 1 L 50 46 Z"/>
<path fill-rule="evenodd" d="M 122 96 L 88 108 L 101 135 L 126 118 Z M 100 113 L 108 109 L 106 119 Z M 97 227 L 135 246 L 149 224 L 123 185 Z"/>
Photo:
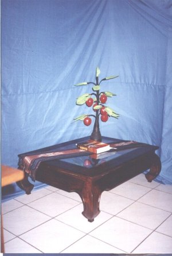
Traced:
<path fill-rule="evenodd" d="M 62 150 L 75 148 L 76 143 L 89 137 L 72 140 L 52 147 Z M 103 137 L 105 143 L 123 142 L 123 140 Z M 76 192 L 83 201 L 83 215 L 92 222 L 100 213 L 101 193 L 122 184 L 128 179 L 150 169 L 146 174 L 148 182 L 153 181 L 161 171 L 161 161 L 155 154 L 157 146 L 146 144 L 117 152 L 105 152 L 97 155 L 82 155 L 65 159 L 41 162 L 36 173 L 36 180 L 67 192 Z M 42 150 L 42 149 L 41 149 Z M 33 151 L 34 152 L 38 152 Z M 85 152 L 87 154 L 87 152 Z M 28 174 L 17 182 L 19 188 L 30 194 L 34 185 L 28 181 Z"/>

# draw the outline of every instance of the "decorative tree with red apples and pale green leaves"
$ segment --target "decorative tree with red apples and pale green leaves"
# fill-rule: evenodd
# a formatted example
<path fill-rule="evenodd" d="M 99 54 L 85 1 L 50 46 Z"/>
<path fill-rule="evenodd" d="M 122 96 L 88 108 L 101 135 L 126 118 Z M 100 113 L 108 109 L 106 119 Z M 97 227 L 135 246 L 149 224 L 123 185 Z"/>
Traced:
<path fill-rule="evenodd" d="M 84 86 L 92 84 L 92 90 L 93 93 L 85 93 L 81 95 L 79 98 L 77 98 L 76 104 L 77 105 L 84 105 L 86 104 L 88 107 L 93 106 L 93 112 L 95 114 L 82 114 L 79 117 L 76 117 L 75 121 L 84 121 L 85 125 L 90 125 L 92 123 L 91 117 L 95 118 L 95 124 L 93 127 L 93 132 L 91 134 L 91 139 L 97 140 L 101 142 L 101 133 L 99 129 L 99 116 L 101 116 L 101 121 L 106 122 L 109 117 L 115 117 L 118 119 L 119 114 L 115 113 L 114 109 L 104 106 L 104 104 L 107 102 L 107 97 L 112 97 L 116 94 L 111 93 L 110 91 L 101 91 L 100 92 L 100 83 L 102 81 L 107 81 L 110 79 L 114 79 L 116 77 L 119 77 L 118 75 L 113 75 L 111 77 L 105 77 L 101 79 L 99 82 L 99 75 L 100 75 L 100 69 L 99 67 L 96 68 L 96 83 L 94 82 L 83 82 L 83 83 L 77 83 L 75 86 Z M 93 98 L 95 96 L 95 98 Z"/>

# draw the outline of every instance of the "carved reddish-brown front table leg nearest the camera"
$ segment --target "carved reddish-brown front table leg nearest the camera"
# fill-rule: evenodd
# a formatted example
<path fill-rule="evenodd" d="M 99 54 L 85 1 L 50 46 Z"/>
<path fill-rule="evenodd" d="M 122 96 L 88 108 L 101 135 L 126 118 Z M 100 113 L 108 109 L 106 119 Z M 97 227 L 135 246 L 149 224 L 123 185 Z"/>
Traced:
<path fill-rule="evenodd" d="M 92 222 L 100 213 L 99 202 L 101 191 L 95 184 L 92 184 L 92 182 L 89 181 L 85 182 L 80 196 L 84 205 L 84 211 L 82 213 L 89 222 Z"/>

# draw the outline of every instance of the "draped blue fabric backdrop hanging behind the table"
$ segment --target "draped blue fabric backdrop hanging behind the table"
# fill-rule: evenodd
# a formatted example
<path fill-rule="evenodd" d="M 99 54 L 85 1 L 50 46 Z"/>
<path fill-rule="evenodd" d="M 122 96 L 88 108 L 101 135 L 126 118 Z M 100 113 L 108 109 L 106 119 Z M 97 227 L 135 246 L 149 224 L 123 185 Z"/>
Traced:
<path fill-rule="evenodd" d="M 75 105 L 100 77 L 120 114 L 102 135 L 160 146 L 159 181 L 172 183 L 171 0 L 2 0 L 2 164 L 18 154 L 88 136 Z M 91 112 L 91 110 L 90 110 Z M 15 188 L 15 193 L 19 190 Z"/>

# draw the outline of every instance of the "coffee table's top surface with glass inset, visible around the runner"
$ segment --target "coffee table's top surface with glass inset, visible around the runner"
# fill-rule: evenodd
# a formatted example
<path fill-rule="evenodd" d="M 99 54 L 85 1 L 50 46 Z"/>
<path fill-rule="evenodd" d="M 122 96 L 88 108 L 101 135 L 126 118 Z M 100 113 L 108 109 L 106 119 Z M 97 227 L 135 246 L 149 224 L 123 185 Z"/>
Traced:
<path fill-rule="evenodd" d="M 53 146 L 53 148 L 57 148 L 58 150 L 68 150 L 70 148 L 77 148 L 76 143 L 85 142 L 89 137 L 84 137 L 81 139 L 76 139 L 68 143 L 58 144 L 57 146 Z M 119 143 L 119 142 L 127 142 L 126 140 L 114 139 L 111 137 L 102 137 L 102 142 L 104 143 Z M 52 148 L 52 147 L 51 147 Z M 49 166 L 61 167 L 63 169 L 71 170 L 75 173 L 95 173 L 95 171 L 100 171 L 109 169 L 111 166 L 115 167 L 121 165 L 124 162 L 130 161 L 140 155 L 143 155 L 150 151 L 155 151 L 158 147 L 151 146 L 146 144 L 146 146 L 142 147 L 133 147 L 126 148 L 125 150 L 119 151 L 107 151 L 100 154 L 89 154 L 88 151 L 85 151 L 83 155 L 76 156 L 67 156 L 62 159 L 55 159 L 52 161 L 46 161 Z"/>

